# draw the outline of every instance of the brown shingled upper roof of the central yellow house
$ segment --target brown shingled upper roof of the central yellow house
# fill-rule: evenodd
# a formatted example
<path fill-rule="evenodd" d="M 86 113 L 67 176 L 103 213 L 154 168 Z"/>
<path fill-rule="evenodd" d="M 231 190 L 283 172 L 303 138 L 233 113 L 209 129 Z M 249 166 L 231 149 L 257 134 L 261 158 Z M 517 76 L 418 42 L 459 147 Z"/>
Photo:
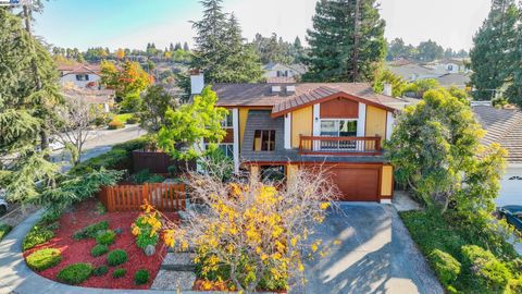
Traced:
<path fill-rule="evenodd" d="M 273 86 L 279 86 L 281 91 L 274 94 Z M 289 110 L 318 103 L 330 96 L 346 96 L 360 99 L 388 110 L 401 109 L 405 101 L 389 96 L 375 94 L 368 83 L 297 83 L 295 91 L 287 93 L 288 84 L 216 84 L 222 107 L 266 107 L 273 109 L 273 115 L 289 112 Z"/>

